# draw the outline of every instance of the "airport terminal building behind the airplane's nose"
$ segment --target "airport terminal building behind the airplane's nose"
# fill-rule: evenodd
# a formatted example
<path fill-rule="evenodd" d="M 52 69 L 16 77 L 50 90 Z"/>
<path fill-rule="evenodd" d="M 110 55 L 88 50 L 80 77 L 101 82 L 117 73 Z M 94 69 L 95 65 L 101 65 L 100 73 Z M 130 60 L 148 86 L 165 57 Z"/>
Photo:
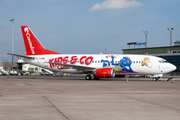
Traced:
<path fill-rule="evenodd" d="M 180 45 L 177 46 L 166 46 L 166 47 L 150 47 L 150 48 L 133 48 L 133 49 L 122 49 L 123 54 L 148 54 L 158 56 L 166 59 L 168 62 L 174 64 L 177 69 L 171 72 L 170 75 L 180 75 Z"/>

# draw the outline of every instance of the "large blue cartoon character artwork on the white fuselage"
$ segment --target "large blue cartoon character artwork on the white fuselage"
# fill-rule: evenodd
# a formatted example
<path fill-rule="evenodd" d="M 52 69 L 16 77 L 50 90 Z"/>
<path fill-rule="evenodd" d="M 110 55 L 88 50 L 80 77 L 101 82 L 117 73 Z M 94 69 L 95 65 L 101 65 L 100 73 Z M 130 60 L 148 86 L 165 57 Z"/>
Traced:
<path fill-rule="evenodd" d="M 108 60 L 101 60 L 101 62 L 103 62 L 103 67 L 113 68 L 116 73 L 134 73 L 134 71 L 131 68 L 132 62 L 129 57 L 123 57 L 118 63 L 115 63 L 114 56 L 111 56 L 111 58 L 111 64 Z"/>

